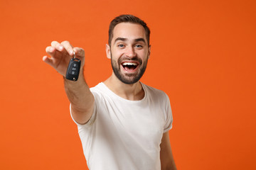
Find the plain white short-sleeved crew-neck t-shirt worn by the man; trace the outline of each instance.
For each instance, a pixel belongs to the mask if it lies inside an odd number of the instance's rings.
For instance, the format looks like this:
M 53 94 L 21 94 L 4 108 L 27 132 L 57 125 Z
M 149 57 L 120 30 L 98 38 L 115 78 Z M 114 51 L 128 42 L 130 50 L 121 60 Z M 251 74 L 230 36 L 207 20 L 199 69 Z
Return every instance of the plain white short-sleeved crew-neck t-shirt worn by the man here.
M 161 169 L 161 138 L 172 127 L 169 97 L 145 84 L 142 88 L 140 101 L 117 96 L 103 83 L 90 89 L 94 113 L 87 124 L 77 123 L 90 170 Z

